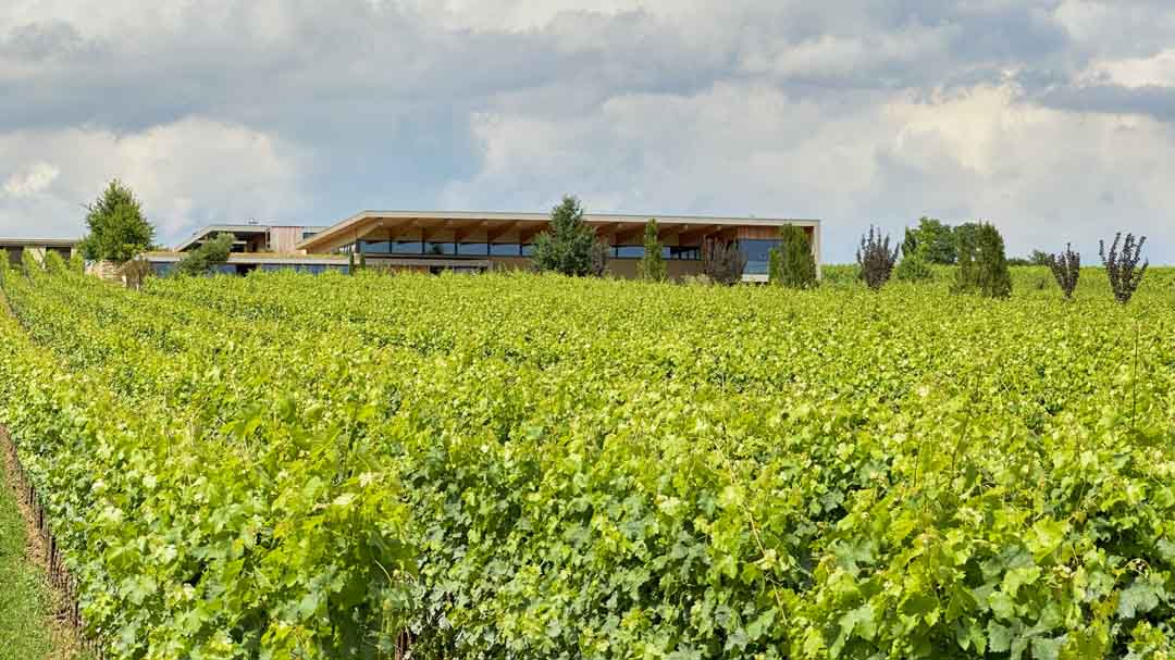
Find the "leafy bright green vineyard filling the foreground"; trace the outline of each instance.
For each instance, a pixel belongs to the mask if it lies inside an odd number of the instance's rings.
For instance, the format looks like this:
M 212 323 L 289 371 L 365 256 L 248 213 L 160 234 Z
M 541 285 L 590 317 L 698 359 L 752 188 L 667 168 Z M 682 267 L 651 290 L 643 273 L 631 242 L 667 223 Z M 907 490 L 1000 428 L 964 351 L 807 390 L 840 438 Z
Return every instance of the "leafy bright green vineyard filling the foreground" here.
M 0 265 L 0 423 L 107 656 L 1175 653 L 1175 270 Z

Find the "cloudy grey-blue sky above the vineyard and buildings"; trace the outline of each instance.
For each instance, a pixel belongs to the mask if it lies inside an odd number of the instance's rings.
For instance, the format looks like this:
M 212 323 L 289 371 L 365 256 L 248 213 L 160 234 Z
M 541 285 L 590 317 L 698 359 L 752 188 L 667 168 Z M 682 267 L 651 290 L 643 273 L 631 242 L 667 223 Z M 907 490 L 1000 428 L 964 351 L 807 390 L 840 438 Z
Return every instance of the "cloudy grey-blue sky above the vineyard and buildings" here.
M 4 0 L 0 235 L 360 209 L 982 218 L 1175 263 L 1169 0 Z

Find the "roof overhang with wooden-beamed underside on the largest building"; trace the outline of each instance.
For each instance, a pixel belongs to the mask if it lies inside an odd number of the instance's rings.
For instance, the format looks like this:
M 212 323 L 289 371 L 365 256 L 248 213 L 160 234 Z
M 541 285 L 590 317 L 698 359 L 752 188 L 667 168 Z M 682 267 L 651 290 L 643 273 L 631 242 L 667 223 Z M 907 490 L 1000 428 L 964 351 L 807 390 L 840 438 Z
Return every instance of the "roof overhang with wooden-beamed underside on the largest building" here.
M 723 217 L 685 215 L 631 215 L 631 214 L 584 214 L 584 222 L 597 229 L 637 231 L 650 220 L 664 228 L 692 227 L 783 227 L 798 224 L 818 227 L 819 220 Z M 296 245 L 307 252 L 330 252 L 354 243 L 381 228 L 445 229 L 454 231 L 478 228 L 494 236 L 495 228 L 512 228 L 533 234 L 546 228 L 551 217 L 540 213 L 484 213 L 484 211 L 362 211 L 310 236 Z M 489 242 L 494 242 L 492 238 Z

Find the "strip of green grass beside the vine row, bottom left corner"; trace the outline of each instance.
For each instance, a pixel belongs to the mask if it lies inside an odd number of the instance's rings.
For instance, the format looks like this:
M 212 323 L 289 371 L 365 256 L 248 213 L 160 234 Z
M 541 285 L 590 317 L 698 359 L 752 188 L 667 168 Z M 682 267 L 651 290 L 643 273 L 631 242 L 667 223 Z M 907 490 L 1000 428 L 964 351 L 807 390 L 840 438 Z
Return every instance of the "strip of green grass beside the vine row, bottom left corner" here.
M 25 520 L 0 460 L 0 660 L 33 660 L 53 651 L 49 593 L 25 548 Z

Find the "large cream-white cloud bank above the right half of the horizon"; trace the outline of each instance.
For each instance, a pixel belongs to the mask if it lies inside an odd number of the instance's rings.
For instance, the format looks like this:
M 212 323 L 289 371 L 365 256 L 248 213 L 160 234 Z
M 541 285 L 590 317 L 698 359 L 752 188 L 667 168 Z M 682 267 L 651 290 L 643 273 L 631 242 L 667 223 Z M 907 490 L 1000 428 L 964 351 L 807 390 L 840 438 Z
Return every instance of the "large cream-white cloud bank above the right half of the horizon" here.
M 986 220 L 1009 251 L 1090 258 L 1115 229 L 1171 254 L 1175 137 L 1137 116 L 1087 116 L 1018 101 L 1008 86 L 895 93 L 840 113 L 767 86 L 612 99 L 573 122 L 482 116 L 483 168 L 450 206 L 545 208 L 578 193 L 593 210 L 820 217 L 826 258 L 851 258 L 868 223 L 894 234 L 921 215 Z

